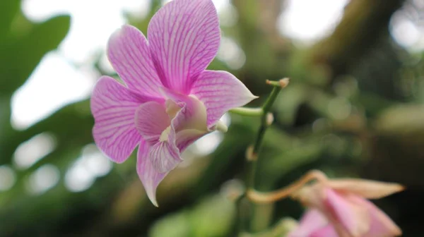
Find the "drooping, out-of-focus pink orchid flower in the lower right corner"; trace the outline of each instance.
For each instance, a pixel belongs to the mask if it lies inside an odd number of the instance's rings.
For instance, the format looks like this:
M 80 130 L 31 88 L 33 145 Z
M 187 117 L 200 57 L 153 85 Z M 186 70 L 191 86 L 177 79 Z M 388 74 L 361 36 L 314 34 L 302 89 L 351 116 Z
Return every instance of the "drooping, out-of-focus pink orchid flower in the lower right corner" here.
M 355 179 L 314 183 L 293 195 L 309 209 L 289 237 L 393 237 L 401 229 L 366 198 L 399 192 L 399 184 Z

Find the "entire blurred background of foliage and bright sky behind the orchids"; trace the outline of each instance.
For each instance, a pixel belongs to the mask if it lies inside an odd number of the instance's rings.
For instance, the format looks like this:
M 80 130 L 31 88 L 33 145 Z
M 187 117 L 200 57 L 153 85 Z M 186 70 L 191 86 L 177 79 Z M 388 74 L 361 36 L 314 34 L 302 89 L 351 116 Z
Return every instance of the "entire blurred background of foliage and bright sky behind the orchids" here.
M 89 97 L 113 75 L 108 37 L 146 32 L 158 0 L 0 1 L 0 236 L 234 236 L 225 193 L 245 178 L 259 119 L 226 114 L 148 201 L 136 157 L 112 164 L 93 144 Z M 273 108 L 257 187 L 310 169 L 404 183 L 375 202 L 423 236 L 424 0 L 213 0 L 223 38 L 210 69 L 260 99 L 290 77 Z M 224 194 L 224 195 L 223 195 Z M 292 200 L 257 207 L 254 229 L 297 219 Z

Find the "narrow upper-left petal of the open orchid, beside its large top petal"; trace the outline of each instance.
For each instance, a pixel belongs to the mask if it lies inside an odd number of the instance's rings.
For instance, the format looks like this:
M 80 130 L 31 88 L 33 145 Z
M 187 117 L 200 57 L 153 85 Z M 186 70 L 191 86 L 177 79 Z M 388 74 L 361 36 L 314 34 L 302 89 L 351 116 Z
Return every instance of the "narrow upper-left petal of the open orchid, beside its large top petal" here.
M 107 56 L 126 85 L 142 95 L 158 96 L 163 86 L 151 59 L 143 33 L 131 25 L 114 32 L 107 44 Z

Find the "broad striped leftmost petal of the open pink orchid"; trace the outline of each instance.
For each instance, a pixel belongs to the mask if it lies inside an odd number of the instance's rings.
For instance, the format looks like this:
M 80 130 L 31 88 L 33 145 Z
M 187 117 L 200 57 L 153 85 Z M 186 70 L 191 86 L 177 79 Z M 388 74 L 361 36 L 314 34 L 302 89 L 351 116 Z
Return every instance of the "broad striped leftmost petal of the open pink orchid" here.
M 91 97 L 95 143 L 114 162 L 124 162 L 141 140 L 134 124 L 139 104 L 146 101 L 113 78 L 98 80 Z

